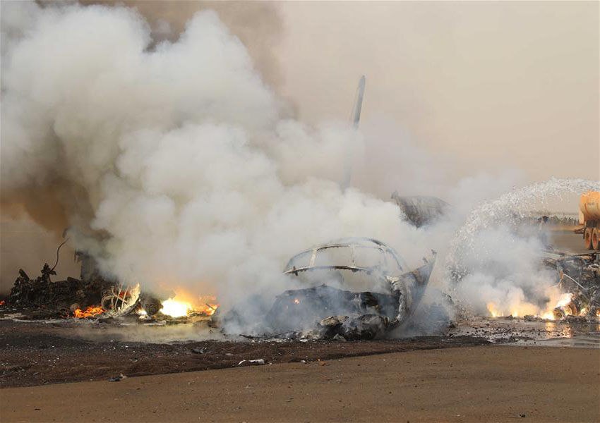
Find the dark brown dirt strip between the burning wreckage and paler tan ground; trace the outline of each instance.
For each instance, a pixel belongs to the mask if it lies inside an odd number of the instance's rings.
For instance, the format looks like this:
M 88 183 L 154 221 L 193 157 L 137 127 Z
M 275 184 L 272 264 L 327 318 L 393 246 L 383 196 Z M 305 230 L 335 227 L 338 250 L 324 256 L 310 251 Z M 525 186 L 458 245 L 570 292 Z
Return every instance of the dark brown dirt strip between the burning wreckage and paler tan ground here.
M 116 328 L 116 330 L 126 328 Z M 164 329 L 164 328 L 157 328 Z M 85 331 L 85 332 L 84 332 Z M 475 336 L 425 336 L 382 341 L 199 341 L 142 343 L 115 341 L 102 329 L 67 322 L 0 321 L 0 386 L 32 386 L 104 380 L 119 374 L 190 372 L 236 367 L 241 360 L 314 362 L 356 355 L 485 345 Z M 88 338 L 83 338 L 83 336 Z

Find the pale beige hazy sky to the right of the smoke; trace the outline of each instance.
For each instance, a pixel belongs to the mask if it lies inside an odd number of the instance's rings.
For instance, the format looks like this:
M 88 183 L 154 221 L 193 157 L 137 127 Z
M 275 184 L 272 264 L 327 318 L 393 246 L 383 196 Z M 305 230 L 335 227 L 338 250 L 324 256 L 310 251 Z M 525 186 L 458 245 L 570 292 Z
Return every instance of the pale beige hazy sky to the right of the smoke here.
M 455 176 L 600 179 L 599 3 L 286 2 L 283 92 L 312 122 L 402 123 Z M 463 166 L 464 165 L 464 166 Z

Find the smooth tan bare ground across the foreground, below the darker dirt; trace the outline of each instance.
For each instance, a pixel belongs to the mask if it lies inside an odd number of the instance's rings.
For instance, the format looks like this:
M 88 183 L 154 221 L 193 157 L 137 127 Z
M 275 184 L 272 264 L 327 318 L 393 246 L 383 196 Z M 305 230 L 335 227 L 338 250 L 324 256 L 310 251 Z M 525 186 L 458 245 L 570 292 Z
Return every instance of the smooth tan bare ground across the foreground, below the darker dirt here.
M 598 422 L 600 353 L 479 346 L 0 391 L 2 422 Z

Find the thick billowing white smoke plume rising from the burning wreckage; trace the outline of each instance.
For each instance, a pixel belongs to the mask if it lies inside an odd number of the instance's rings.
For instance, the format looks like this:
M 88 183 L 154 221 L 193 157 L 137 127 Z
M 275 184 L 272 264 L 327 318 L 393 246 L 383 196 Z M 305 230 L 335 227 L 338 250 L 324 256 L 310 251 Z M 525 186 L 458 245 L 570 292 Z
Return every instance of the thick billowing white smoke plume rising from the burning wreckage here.
M 529 261 L 541 245 L 501 221 L 477 229 L 481 247 L 464 250 L 476 239 L 470 226 L 450 244 L 470 207 L 517 173 L 450 188 L 442 161 L 412 144 L 390 150 L 381 124 L 371 142 L 345 122 L 311 128 L 289 118 L 217 13 L 197 13 L 179 39 L 156 44 L 129 8 L 5 3 L 1 30 L 2 202 L 68 226 L 107 274 L 233 302 L 282 292 L 282 268 L 299 250 L 368 236 L 409 264 L 431 248 L 457 250 L 469 273 L 458 294 L 480 311 L 542 298 L 551 283 Z M 349 156 L 360 190 L 342 192 Z M 415 228 L 380 200 L 397 188 L 445 194 L 454 212 Z M 444 270 L 433 281 L 441 288 Z

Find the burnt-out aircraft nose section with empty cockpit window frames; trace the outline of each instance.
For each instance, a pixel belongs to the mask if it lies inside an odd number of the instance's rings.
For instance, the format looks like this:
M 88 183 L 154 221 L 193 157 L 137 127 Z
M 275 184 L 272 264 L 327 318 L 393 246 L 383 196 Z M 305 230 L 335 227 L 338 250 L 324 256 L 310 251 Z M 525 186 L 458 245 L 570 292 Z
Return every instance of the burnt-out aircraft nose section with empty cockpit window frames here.
M 264 332 L 380 338 L 404 324 L 424 295 L 435 252 L 424 262 L 409 271 L 392 247 L 371 238 L 345 238 L 299 252 L 284 275 L 303 288 L 277 295 L 265 313 Z M 234 308 L 222 323 L 227 326 L 238 317 Z

